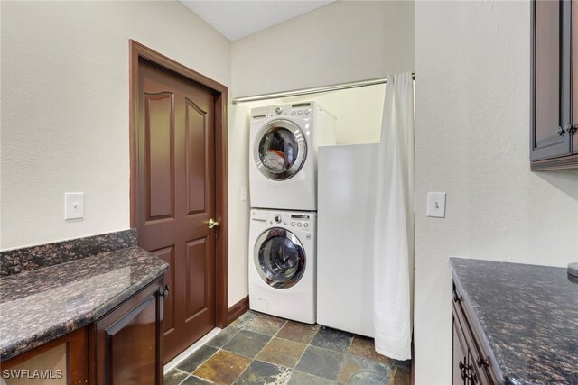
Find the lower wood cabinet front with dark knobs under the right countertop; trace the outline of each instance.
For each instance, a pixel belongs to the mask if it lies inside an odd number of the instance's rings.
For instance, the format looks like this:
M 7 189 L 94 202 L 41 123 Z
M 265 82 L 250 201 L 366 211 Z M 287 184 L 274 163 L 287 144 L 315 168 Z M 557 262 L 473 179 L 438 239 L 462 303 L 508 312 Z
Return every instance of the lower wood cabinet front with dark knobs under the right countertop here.
M 454 385 L 500 384 L 495 364 L 489 359 L 481 338 L 471 326 L 463 297 L 453 285 L 452 296 L 452 383 Z

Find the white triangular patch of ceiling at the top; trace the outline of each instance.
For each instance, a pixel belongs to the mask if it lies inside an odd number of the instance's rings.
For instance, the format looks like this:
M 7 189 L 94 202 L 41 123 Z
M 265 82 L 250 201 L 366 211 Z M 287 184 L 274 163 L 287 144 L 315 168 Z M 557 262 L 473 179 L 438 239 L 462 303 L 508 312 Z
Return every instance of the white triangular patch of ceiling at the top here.
M 181 0 L 182 4 L 198 14 L 205 22 L 210 23 L 230 41 L 283 23 L 333 1 Z

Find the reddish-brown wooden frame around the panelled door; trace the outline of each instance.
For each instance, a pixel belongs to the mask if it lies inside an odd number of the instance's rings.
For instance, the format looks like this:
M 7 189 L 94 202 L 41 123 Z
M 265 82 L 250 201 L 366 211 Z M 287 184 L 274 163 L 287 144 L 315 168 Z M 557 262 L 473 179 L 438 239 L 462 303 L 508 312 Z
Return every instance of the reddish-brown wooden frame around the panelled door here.
M 184 77 L 215 95 L 215 215 L 219 233 L 215 240 L 215 324 L 228 325 L 228 87 L 182 64 L 129 40 L 130 114 L 130 226 L 138 225 L 138 170 L 136 134 L 138 122 L 138 65 L 143 61 L 157 69 Z

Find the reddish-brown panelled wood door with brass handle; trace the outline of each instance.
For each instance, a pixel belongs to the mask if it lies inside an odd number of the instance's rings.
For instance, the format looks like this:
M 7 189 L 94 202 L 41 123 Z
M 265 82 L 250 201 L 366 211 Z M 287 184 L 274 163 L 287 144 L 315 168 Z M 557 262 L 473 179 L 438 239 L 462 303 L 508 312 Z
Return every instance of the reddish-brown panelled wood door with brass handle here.
M 164 362 L 215 327 L 215 96 L 139 63 L 138 243 L 170 265 Z

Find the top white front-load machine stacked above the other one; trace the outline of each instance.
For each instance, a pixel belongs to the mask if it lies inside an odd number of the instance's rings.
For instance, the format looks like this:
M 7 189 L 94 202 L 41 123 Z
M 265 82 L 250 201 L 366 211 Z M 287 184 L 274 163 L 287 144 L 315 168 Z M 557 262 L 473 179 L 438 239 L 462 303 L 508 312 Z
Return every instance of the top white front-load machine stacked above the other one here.
M 335 144 L 335 116 L 315 102 L 251 110 L 251 207 L 317 210 L 317 147 Z

